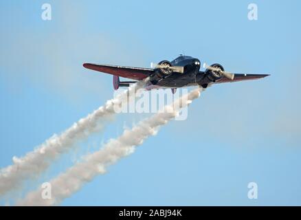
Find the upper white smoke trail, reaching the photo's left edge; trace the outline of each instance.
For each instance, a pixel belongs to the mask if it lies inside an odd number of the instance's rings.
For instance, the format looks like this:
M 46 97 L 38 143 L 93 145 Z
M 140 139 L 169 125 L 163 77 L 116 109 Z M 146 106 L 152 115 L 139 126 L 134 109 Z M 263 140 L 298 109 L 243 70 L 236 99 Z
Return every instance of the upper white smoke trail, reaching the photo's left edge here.
M 100 131 L 103 125 L 100 120 L 103 122 L 109 120 L 115 113 L 114 109 L 120 108 L 122 102 L 126 102 L 129 96 L 135 96 L 146 80 L 131 85 L 124 93 L 107 101 L 104 106 L 80 119 L 60 135 L 50 137 L 34 151 L 21 158 L 13 157 L 13 164 L 0 170 L 0 196 L 21 186 L 25 179 L 42 173 L 58 155 L 66 153 L 78 140 Z

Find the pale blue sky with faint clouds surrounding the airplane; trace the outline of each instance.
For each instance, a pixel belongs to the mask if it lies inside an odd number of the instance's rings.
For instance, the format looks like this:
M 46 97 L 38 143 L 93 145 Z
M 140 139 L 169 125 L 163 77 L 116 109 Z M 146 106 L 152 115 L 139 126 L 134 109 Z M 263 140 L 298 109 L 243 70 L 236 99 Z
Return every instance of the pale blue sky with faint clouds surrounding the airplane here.
M 301 205 L 300 1 L 47 1 L 52 21 L 41 19 L 43 3 L 0 3 L 1 167 L 112 98 L 111 76 L 82 63 L 149 67 L 186 54 L 271 76 L 210 87 L 187 120 L 162 127 L 62 205 Z M 258 21 L 247 19 L 249 3 Z M 141 118 L 118 115 L 27 188 Z

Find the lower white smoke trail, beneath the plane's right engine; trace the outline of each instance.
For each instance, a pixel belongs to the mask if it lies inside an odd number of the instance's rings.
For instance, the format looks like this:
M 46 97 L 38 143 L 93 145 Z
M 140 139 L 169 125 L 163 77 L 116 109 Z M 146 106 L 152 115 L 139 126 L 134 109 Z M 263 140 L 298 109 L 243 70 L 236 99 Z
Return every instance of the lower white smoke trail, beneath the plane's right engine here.
M 166 124 L 172 118 L 175 118 L 179 108 L 185 107 L 192 100 L 198 98 L 201 94 L 201 88 L 191 91 L 189 94 L 182 96 L 173 104 L 165 108 L 166 111 L 157 113 L 152 117 L 143 120 L 131 130 L 125 130 L 117 139 L 110 140 L 100 151 L 91 153 L 83 158 L 83 161 L 67 169 L 65 173 L 58 175 L 49 182 L 52 186 L 52 198 L 43 199 L 43 189 L 40 188 L 30 192 L 20 200 L 17 206 L 53 206 L 63 199 L 71 196 L 74 192 L 80 190 L 83 184 L 91 181 L 98 174 L 106 172 L 107 166 L 114 164 L 122 157 L 125 157 L 133 151 L 135 146 L 144 142 L 150 135 L 155 135 L 159 126 Z M 179 107 L 178 109 L 173 106 Z

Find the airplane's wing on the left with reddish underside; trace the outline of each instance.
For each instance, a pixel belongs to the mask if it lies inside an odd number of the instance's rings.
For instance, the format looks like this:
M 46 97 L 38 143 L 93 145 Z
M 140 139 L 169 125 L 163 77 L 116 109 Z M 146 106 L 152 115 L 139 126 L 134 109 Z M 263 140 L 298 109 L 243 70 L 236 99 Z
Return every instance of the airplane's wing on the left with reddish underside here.
M 84 63 L 83 66 L 87 69 L 96 70 L 98 72 L 103 72 L 114 76 L 131 78 L 133 80 L 143 80 L 144 78 L 150 76 L 150 74 L 153 74 L 154 71 L 150 68 L 96 65 L 91 63 Z

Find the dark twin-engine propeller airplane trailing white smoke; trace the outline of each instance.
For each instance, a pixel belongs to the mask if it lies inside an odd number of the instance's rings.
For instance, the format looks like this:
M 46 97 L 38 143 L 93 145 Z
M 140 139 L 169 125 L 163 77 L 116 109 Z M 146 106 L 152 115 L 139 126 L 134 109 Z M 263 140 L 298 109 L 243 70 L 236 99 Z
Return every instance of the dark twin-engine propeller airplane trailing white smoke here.
M 269 76 L 269 74 L 232 74 L 225 72 L 224 67 L 218 63 L 210 66 L 204 64 L 205 71 L 200 71 L 201 62 L 198 58 L 181 54 L 173 61 L 159 62 L 154 68 L 91 63 L 84 63 L 83 66 L 87 69 L 113 75 L 113 88 L 115 90 L 119 87 L 129 87 L 132 83 L 149 77 L 145 89 L 170 88 L 172 94 L 175 94 L 177 88 L 181 87 L 201 86 L 207 88 L 208 85 L 212 84 L 255 80 Z M 135 81 L 120 82 L 120 77 Z

